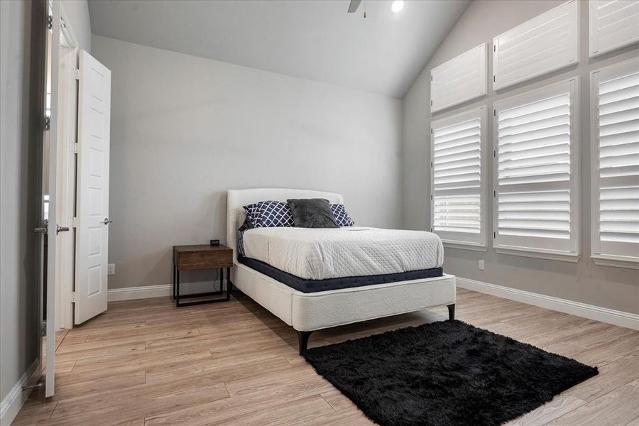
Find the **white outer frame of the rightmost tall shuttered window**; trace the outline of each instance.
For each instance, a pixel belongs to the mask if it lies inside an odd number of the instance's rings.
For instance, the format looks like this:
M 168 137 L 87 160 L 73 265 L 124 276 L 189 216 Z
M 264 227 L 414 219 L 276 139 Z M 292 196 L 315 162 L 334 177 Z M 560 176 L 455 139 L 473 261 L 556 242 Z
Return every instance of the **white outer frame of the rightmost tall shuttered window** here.
M 599 253 L 601 241 L 599 240 L 599 82 L 600 77 L 606 76 L 611 79 L 623 77 L 632 70 L 639 69 L 639 58 L 617 62 L 613 65 L 601 67 L 590 72 L 590 148 L 591 148 L 591 215 L 590 215 L 590 235 L 591 253 L 590 257 L 600 266 L 614 266 L 618 268 L 639 269 L 639 256 L 623 256 L 618 254 Z M 611 246 L 624 245 L 623 243 L 608 243 Z M 626 243 L 632 244 L 632 243 Z M 632 246 L 628 246 L 632 249 Z M 628 250 L 630 252 L 630 250 Z

